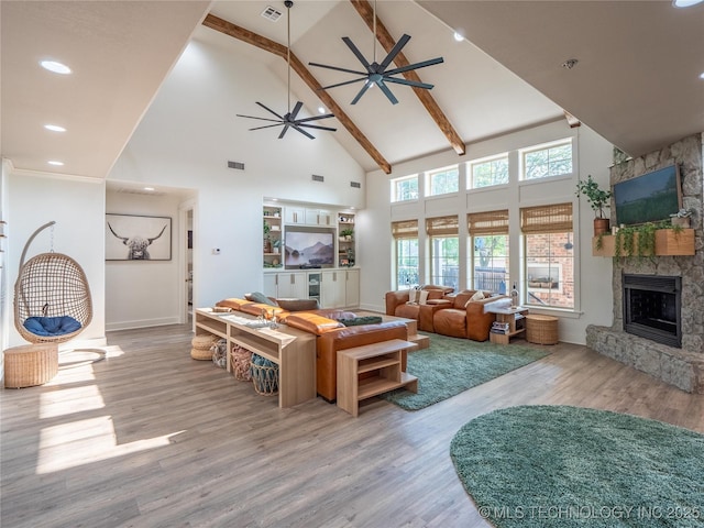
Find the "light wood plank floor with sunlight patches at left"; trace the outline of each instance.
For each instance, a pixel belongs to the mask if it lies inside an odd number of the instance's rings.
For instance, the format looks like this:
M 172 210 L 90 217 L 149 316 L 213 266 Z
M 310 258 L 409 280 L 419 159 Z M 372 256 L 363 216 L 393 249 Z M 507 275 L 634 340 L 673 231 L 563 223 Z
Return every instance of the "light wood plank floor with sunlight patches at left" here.
M 424 410 L 374 400 L 352 418 L 320 398 L 278 409 L 191 360 L 190 337 L 187 326 L 111 332 L 106 360 L 64 355 L 50 384 L 2 391 L 0 525 L 488 526 L 449 457 L 479 415 L 564 404 L 704 432 L 704 396 L 583 346 L 549 346 L 543 360 Z

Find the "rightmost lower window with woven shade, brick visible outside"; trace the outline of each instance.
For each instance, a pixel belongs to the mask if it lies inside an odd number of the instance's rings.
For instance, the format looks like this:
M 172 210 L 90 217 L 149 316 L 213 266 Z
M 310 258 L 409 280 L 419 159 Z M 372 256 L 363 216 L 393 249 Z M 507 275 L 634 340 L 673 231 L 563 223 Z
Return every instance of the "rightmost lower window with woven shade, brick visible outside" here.
M 526 304 L 574 308 L 572 204 L 520 209 Z

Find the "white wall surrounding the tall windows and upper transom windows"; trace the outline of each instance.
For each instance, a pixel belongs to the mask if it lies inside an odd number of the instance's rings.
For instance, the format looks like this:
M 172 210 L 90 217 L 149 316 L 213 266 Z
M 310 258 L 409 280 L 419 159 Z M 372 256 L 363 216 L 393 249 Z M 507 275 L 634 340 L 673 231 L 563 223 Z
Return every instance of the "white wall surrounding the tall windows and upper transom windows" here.
M 563 138 L 575 138 L 576 165 L 572 178 L 550 178 L 544 182 L 519 182 L 512 174 L 508 186 L 497 189 L 477 189 L 460 191 L 447 197 L 420 199 L 402 206 L 391 205 L 391 179 L 419 172 L 444 167 L 490 155 L 516 151 Z M 464 156 L 452 152 L 441 153 L 426 158 L 398 164 L 393 175 L 381 170 L 370 173 L 366 179 L 367 209 L 358 216 L 358 264 L 361 267 L 362 306 L 370 310 L 384 310 L 384 293 L 392 288 L 392 238 L 391 222 L 397 219 L 419 219 L 446 213 L 486 211 L 508 208 L 512 232 L 518 232 L 518 210 L 525 206 L 559 204 L 571 201 L 575 212 L 575 280 L 578 282 L 578 299 L 572 314 L 552 314 L 560 317 L 560 340 L 574 343 L 585 342 L 587 324 L 610 324 L 612 290 L 609 258 L 594 257 L 591 254 L 593 233 L 593 211 L 585 202 L 578 200 L 574 190 L 579 178 L 591 174 L 602 186 L 608 187 L 608 166 L 612 162 L 612 145 L 585 125 L 570 129 L 563 121 L 536 127 L 494 140 L 471 144 Z M 517 164 L 516 164 L 517 165 Z M 463 179 L 463 178 L 461 178 Z M 461 183 L 460 188 L 464 188 Z M 460 234 L 466 238 L 466 227 L 462 226 Z M 460 238 L 460 249 L 466 246 Z M 419 249 L 422 252 L 422 248 Z M 510 255 L 520 254 L 520 240 L 510 239 Z M 422 253 L 421 253 L 422 258 Z M 510 276 L 518 277 L 520 260 L 510 258 Z M 464 266 L 466 267 L 466 266 Z M 384 270 L 385 273 L 378 273 Z M 460 275 L 460 284 L 466 284 L 466 270 Z M 540 311 L 540 310 L 534 310 Z

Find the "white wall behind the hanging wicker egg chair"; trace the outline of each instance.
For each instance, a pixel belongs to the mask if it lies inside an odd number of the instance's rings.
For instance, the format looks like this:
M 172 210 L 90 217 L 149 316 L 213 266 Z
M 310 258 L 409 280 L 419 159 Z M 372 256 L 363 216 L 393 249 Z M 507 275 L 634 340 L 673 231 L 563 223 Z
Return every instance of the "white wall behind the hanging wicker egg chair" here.
M 74 258 L 84 268 L 92 299 L 92 322 L 67 346 L 105 343 L 105 182 L 13 172 L 7 182 L 8 284 L 14 285 L 24 244 L 32 233 L 52 220 L 56 224 L 38 234 L 25 261 L 52 249 Z M 10 295 L 12 295 L 10 293 Z M 11 316 L 12 317 L 12 316 Z M 3 334 L 6 330 L 3 327 Z M 14 329 L 7 329 L 8 345 L 26 344 Z

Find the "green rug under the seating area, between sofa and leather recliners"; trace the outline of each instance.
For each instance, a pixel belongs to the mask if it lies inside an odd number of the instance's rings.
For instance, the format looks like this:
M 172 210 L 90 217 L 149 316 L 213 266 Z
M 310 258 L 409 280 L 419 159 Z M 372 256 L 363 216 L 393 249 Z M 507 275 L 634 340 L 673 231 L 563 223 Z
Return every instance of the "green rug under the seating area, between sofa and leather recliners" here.
M 407 371 L 418 376 L 418 394 L 393 391 L 381 397 L 406 410 L 418 410 L 549 355 L 518 344 L 494 344 L 430 336 L 430 348 L 408 354 Z

